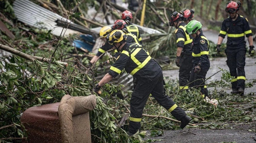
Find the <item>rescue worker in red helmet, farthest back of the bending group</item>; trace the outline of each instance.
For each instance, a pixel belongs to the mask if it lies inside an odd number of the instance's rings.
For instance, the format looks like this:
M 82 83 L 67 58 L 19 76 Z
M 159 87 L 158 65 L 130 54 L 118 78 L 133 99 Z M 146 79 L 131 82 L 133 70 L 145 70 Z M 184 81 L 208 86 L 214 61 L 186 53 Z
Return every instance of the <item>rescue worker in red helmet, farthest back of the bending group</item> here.
M 140 37 L 139 28 L 131 23 L 132 13 L 129 10 L 125 10 L 122 13 L 122 19 L 127 23 L 127 30 L 137 36 L 139 43 L 142 44 L 142 38 Z

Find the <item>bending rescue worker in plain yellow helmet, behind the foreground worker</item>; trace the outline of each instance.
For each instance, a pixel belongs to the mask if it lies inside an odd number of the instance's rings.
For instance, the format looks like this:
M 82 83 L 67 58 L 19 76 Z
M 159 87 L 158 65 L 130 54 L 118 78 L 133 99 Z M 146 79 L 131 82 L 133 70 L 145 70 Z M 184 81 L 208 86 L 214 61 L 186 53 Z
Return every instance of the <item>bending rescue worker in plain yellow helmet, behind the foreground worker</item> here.
M 100 55 L 113 48 L 113 45 L 110 45 L 106 40 L 106 37 L 111 32 L 111 30 L 112 28 L 110 26 L 104 26 L 100 29 L 100 39 L 103 40 L 105 43 L 99 48 L 97 54 L 91 59 L 91 61 L 89 62 L 89 66 L 92 66 L 92 64 L 97 62 L 97 59 L 100 57 Z M 119 55 L 120 53 L 118 53 L 117 50 L 114 50 L 113 57 L 116 59 Z M 106 63 L 109 63 L 109 60 L 104 62 L 104 64 Z

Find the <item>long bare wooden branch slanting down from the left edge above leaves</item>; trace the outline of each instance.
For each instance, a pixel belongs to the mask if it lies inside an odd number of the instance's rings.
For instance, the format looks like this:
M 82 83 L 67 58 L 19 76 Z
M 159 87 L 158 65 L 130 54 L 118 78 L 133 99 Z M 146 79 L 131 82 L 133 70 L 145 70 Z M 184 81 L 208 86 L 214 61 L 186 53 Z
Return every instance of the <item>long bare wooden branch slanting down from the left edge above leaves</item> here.
M 0 45 L 0 49 L 4 50 L 4 51 L 7 51 L 7 52 L 10 52 L 14 55 L 17 55 L 17 56 L 20 56 L 24 59 L 28 59 L 28 60 L 31 60 L 31 61 L 34 61 L 34 60 L 40 60 L 40 61 L 43 61 L 43 62 L 47 62 L 49 63 L 50 62 L 50 58 L 42 58 L 42 57 L 36 57 L 36 56 L 31 56 L 31 55 L 28 55 L 28 54 L 25 54 L 21 51 L 18 51 L 16 49 L 13 49 L 11 47 L 8 47 L 8 46 L 5 46 L 3 44 Z M 63 65 L 65 67 L 68 66 L 68 63 L 65 63 L 65 62 L 61 62 L 61 61 L 55 61 L 54 62 L 56 65 L 60 64 L 60 65 Z

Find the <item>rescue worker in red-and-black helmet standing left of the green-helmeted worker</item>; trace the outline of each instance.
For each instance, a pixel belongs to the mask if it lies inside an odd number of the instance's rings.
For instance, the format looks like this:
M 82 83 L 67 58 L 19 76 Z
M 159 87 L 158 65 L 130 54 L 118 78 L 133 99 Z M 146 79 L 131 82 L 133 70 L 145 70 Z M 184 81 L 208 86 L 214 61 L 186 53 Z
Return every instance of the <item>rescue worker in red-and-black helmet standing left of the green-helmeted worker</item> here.
M 188 81 L 192 64 L 192 38 L 186 33 L 186 23 L 183 21 L 183 15 L 174 11 L 171 14 L 169 26 L 175 26 L 177 54 L 175 63 L 179 69 L 179 85 L 180 89 L 188 89 Z

